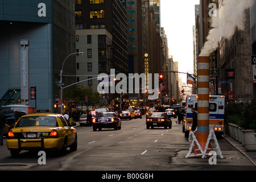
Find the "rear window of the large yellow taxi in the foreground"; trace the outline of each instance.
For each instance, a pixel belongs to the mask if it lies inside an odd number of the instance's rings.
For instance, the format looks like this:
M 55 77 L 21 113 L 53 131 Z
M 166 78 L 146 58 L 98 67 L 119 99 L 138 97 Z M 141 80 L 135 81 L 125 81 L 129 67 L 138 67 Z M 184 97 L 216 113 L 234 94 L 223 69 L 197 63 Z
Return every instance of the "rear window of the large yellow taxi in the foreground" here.
M 20 118 L 15 127 L 27 126 L 58 126 L 56 117 L 51 116 L 31 116 Z

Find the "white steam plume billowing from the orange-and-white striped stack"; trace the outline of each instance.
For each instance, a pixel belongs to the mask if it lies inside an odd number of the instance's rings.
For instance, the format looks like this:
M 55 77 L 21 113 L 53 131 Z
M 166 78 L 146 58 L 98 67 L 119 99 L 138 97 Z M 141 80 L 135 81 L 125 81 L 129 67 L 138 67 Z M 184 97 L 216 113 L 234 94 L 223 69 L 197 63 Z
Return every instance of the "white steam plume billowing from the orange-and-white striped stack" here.
M 209 56 L 216 48 L 221 38 L 231 39 L 236 31 L 243 30 L 245 10 L 249 9 L 253 0 L 222 0 L 222 6 L 217 10 L 217 16 L 212 17 L 213 27 L 209 31 L 207 41 L 201 49 L 200 56 Z

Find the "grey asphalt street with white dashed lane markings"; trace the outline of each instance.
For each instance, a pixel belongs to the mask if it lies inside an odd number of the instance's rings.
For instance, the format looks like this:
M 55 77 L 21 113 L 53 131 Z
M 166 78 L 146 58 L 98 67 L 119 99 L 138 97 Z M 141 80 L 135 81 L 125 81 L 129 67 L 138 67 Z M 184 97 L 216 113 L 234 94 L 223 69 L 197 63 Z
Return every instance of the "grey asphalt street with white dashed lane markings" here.
M 142 119 L 122 121 L 121 130 L 77 126 L 78 148 L 65 156 L 46 152 L 46 164 L 38 164 L 38 153 L 22 151 L 12 158 L 0 146 L 0 170 L 31 171 L 189 171 L 189 170 L 255 170 L 249 160 L 224 139 L 218 139 L 224 159 L 216 165 L 209 159 L 189 158 L 190 142 L 184 138 L 182 126 L 172 119 L 172 129 L 146 129 Z M 214 144 L 213 144 L 214 145 Z

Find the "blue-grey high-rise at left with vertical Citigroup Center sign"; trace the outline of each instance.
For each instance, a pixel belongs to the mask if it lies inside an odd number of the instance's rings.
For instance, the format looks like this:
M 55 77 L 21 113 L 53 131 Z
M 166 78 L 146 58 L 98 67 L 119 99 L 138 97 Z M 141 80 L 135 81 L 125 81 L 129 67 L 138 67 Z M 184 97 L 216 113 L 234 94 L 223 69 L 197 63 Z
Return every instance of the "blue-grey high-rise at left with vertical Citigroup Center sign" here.
M 60 98 L 55 81 L 75 52 L 74 1 L 1 1 L 0 9 L 0 107 L 26 104 L 53 112 Z M 75 75 L 75 65 L 75 56 L 69 57 L 63 74 Z M 35 86 L 36 100 L 30 92 Z

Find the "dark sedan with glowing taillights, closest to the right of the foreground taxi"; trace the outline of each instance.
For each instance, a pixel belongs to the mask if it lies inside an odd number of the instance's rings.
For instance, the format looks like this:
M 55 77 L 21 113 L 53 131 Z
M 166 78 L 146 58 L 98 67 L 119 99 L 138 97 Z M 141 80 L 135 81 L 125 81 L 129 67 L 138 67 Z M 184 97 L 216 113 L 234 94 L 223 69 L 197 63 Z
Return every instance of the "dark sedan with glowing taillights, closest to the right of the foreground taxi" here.
M 96 114 L 93 118 L 93 131 L 97 129 L 101 131 L 102 128 L 114 128 L 115 130 L 121 129 L 121 119 L 118 118 L 114 112 L 103 112 Z

